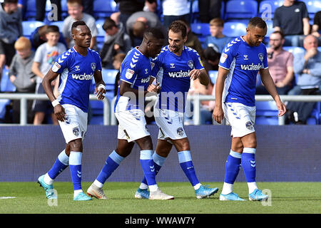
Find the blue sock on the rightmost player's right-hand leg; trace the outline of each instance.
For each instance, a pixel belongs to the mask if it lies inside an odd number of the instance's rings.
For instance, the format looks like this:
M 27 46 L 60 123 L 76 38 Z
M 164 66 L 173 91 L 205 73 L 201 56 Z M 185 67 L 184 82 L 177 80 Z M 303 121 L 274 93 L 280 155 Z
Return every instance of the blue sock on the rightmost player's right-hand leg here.
M 245 147 L 242 154 L 242 167 L 247 182 L 255 182 L 255 148 Z

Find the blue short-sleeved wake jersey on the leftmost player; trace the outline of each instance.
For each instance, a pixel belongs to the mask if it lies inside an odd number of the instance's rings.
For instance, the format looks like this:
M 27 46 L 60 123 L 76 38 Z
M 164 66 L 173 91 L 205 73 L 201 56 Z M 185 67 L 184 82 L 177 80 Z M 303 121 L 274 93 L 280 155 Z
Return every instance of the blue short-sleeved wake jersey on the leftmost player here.
M 60 74 L 58 101 L 75 105 L 88 113 L 89 94 L 95 71 L 101 71 L 101 58 L 96 51 L 88 48 L 86 56 L 81 56 L 71 48 L 58 56 L 52 71 Z

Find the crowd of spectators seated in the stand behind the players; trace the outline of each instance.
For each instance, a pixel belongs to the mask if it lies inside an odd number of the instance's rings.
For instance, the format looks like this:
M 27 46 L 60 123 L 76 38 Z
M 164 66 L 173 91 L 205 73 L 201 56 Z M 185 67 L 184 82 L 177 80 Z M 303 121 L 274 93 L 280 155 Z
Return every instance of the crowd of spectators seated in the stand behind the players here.
M 46 21 L 46 1 L 35 1 L 36 20 Z M 188 29 L 188 40 L 185 46 L 198 51 L 208 72 L 218 70 L 220 53 L 233 39 L 223 33 L 225 21 L 220 13 L 222 1 L 218 0 L 198 0 L 198 22 L 209 25 L 210 35 L 203 40 L 200 40 L 191 29 L 190 23 L 195 21 L 192 21 L 188 0 L 115 0 L 118 11 L 103 19 L 102 28 L 105 36 L 101 46 L 97 41 L 97 18 L 94 16 L 93 1 L 66 1 L 68 15 L 63 17 L 61 1 L 51 0 L 51 4 L 56 4 L 58 21 L 63 21 L 62 29 L 59 30 L 57 26 L 49 23 L 36 28 L 30 38 L 24 38 L 22 28 L 22 21 L 26 14 L 26 0 L 0 0 L 0 2 L 0 79 L 3 69 L 7 68 L 10 81 L 16 86 L 16 93 L 44 93 L 41 89 L 41 80 L 46 71 L 54 63 L 56 56 L 73 47 L 71 25 L 74 21 L 85 21 L 91 29 L 91 48 L 100 53 L 103 68 L 118 71 L 126 53 L 141 43 L 142 34 L 146 28 L 160 28 L 166 37 L 168 25 L 172 21 L 183 21 Z M 283 5 L 274 12 L 274 31 L 265 44 L 270 73 L 280 95 L 307 93 L 302 86 L 313 88 L 313 94 L 320 93 L 321 54 L 317 50 L 317 44 L 321 43 L 321 11 L 315 14 L 312 25 L 309 20 L 312 19 L 309 18 L 307 7 L 302 1 L 285 0 Z M 167 43 L 165 39 L 164 46 Z M 305 48 L 305 52 L 290 53 L 283 48 L 285 46 L 302 47 Z M 58 82 L 55 83 L 57 86 Z M 195 81 L 191 83 L 190 94 L 215 94 L 214 83 L 203 88 Z M 116 88 L 117 78 L 115 90 Z M 257 94 L 268 93 L 264 86 L 258 84 Z M 19 102 L 15 101 L 13 107 L 14 115 L 11 123 L 19 123 Z M 51 108 L 40 100 L 34 101 L 33 105 L 29 102 L 28 107 L 28 123 L 35 125 L 46 123 L 44 114 L 51 114 Z M 293 113 L 297 113 L 295 123 L 305 123 L 309 113 L 305 113 L 301 118 L 302 107 L 297 108 L 297 105 L 291 104 L 290 108 L 291 120 L 294 119 Z M 45 113 L 44 110 L 46 110 Z M 213 109 L 208 102 L 202 103 L 201 110 L 205 113 L 201 114 L 201 123 L 213 123 L 210 119 Z M 306 108 L 306 110 L 310 109 Z M 54 118 L 52 123 L 57 123 Z

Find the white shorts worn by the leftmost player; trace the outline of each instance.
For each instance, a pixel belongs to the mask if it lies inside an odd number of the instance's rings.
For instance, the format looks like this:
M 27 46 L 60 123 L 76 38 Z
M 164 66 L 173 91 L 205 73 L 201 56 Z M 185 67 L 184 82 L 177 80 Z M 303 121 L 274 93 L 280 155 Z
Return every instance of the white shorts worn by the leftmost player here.
M 65 109 L 66 120 L 58 121 L 66 143 L 81 138 L 84 140 L 87 131 L 88 113 L 75 105 L 62 105 Z

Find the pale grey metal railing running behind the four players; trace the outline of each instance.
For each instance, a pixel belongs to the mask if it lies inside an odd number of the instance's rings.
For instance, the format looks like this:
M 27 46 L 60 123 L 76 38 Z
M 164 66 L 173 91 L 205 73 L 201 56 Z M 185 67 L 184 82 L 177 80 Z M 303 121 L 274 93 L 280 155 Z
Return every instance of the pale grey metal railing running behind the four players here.
M 302 101 L 302 102 L 321 102 L 321 95 L 280 95 L 283 102 L 285 101 Z M 26 100 L 48 100 L 46 94 L 34 93 L 0 93 L 0 99 L 21 100 L 20 103 L 20 125 L 26 125 Z M 91 94 L 90 100 L 97 100 L 96 95 Z M 146 101 L 155 100 L 156 96 L 147 97 Z M 192 95 L 188 96 L 188 100 L 193 100 L 194 125 L 200 125 L 200 101 L 215 100 L 213 95 Z M 256 101 L 269 101 L 273 100 L 270 95 L 255 95 Z M 113 107 L 116 102 L 116 97 L 113 98 L 111 103 L 108 99 L 103 99 L 103 125 L 116 125 L 117 120 L 113 113 Z M 279 117 L 279 125 L 285 125 L 285 118 Z

